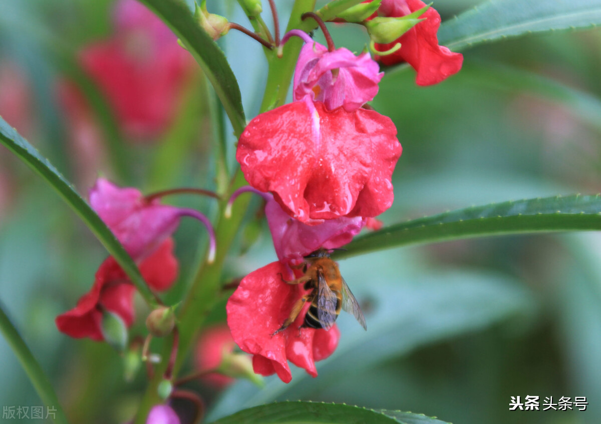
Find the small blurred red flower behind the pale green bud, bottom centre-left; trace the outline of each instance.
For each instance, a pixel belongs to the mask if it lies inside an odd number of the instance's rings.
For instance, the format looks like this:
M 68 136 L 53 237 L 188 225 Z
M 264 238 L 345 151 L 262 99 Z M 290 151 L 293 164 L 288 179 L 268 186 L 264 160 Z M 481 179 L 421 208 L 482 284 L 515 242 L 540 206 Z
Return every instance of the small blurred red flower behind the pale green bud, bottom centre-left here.
M 230 329 L 225 324 L 206 330 L 198 339 L 196 348 L 195 359 L 198 371 L 218 368 L 224 359 L 224 354 L 232 353 L 235 347 Z M 207 374 L 203 380 L 215 387 L 225 387 L 235 381 L 232 377 L 216 372 Z

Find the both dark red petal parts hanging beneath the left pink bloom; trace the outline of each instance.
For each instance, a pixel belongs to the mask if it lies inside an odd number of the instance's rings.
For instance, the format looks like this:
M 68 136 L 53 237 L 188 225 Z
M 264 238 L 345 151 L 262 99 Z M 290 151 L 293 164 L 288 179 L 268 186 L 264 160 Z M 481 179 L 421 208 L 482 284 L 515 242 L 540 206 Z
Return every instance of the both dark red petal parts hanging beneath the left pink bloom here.
M 148 285 L 158 291 L 171 287 L 177 278 L 178 264 L 173 256 L 173 240 L 168 238 L 139 265 L 142 277 Z M 103 310 L 115 313 L 129 327 L 133 323 L 133 294 L 135 287 L 127 275 L 109 256 L 98 271 L 94 285 L 83 295 L 77 305 L 56 317 L 60 332 L 73 338 L 89 337 L 104 340 L 102 335 Z

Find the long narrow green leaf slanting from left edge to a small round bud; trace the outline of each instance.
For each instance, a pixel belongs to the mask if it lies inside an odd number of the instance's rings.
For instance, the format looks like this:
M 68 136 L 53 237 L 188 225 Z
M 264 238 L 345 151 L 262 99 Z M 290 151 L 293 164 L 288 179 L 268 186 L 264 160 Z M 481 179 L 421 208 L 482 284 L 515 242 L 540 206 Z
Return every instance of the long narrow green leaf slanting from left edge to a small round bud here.
M 117 260 L 118 264 L 130 277 L 142 297 L 149 303 L 156 303 L 154 295 L 144 282 L 138 267 L 132 258 L 127 254 L 121 243 L 115 238 L 111 230 L 105 225 L 87 202 L 76 192 L 75 187 L 67 181 L 63 175 L 46 158 L 29 144 L 14 128 L 2 118 L 0 118 L 0 142 L 8 150 L 16 154 L 19 159 L 29 165 L 37 174 L 39 174 L 65 202 L 75 211 L 84 221 L 90 230 L 96 235 L 100 243 Z

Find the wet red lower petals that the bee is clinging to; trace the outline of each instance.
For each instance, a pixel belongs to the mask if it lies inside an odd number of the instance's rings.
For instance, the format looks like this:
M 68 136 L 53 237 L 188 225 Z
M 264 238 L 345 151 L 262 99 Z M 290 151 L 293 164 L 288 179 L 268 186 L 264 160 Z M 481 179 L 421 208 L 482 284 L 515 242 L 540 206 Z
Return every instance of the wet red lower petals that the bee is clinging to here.
M 288 360 L 317 376 L 315 361 L 325 359 L 338 345 L 340 332 L 334 326 L 329 331 L 301 328 L 309 304 L 296 321 L 284 331 L 273 334 L 288 317 L 293 304 L 305 291 L 301 285 L 282 282 L 279 273 L 286 267 L 272 262 L 248 274 L 227 303 L 228 326 L 236 344 L 253 356 L 257 374 L 278 374 L 284 383 L 292 376 Z

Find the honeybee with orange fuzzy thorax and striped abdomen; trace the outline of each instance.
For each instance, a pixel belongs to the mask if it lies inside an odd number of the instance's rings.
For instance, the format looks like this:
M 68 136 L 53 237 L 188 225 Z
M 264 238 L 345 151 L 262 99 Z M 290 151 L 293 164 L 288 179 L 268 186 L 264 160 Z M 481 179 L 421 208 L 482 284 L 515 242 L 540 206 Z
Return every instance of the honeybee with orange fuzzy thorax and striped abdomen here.
M 294 304 L 290 316 L 273 334 L 287 329 L 290 324 L 294 323 L 307 302 L 310 302 L 311 306 L 307 310 L 305 321 L 301 327 L 329 330 L 334 326 L 340 309 L 344 309 L 346 312 L 352 313 L 359 324 L 367 330 L 363 312 L 341 276 L 338 264 L 330 259 L 328 250 L 317 250 L 305 256 L 305 259 L 307 261 L 304 265 L 304 276 L 292 281 L 285 281 L 281 275 L 280 277 L 287 284 L 304 284 L 305 290 L 312 290 Z

